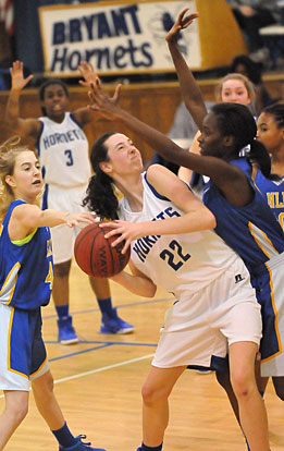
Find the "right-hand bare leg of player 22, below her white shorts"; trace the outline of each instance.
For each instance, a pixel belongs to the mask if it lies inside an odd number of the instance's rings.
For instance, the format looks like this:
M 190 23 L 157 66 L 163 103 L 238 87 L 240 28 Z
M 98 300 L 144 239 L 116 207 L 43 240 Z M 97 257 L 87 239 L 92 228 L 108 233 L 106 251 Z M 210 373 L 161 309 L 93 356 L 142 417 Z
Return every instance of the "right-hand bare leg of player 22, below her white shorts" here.
M 258 345 L 254 342 L 235 342 L 230 345 L 231 382 L 235 392 L 240 425 L 251 451 L 268 451 L 268 418 L 263 400 L 255 377 Z M 254 412 L 254 416 L 251 416 Z

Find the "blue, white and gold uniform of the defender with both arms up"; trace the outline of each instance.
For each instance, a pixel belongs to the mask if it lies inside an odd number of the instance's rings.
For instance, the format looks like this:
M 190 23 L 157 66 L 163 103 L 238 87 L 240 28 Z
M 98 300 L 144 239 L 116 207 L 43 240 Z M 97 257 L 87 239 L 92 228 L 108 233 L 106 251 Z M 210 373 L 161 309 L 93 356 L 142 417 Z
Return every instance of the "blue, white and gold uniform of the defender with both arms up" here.
M 260 351 L 266 361 L 283 352 L 284 294 L 279 282 L 283 280 L 284 233 L 263 194 L 252 183 L 248 160 L 243 157 L 231 163 L 239 167 L 250 181 L 255 190 L 252 202 L 235 207 L 209 181 L 203 191 L 203 203 L 215 216 L 215 232 L 243 258 L 250 272 L 261 305 L 263 338 Z

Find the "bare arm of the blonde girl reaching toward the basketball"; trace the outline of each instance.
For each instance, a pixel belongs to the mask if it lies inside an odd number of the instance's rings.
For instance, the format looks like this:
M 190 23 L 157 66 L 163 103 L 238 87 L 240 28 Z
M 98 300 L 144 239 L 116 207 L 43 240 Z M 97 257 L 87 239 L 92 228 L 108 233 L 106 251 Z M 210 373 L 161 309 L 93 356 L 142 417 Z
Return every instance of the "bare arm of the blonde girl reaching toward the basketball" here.
M 40 210 L 36 205 L 22 204 L 14 208 L 9 222 L 11 240 L 22 240 L 39 227 L 54 227 L 66 224 L 79 227 L 81 222 L 95 222 L 94 215 L 89 212 L 70 214 L 52 209 Z

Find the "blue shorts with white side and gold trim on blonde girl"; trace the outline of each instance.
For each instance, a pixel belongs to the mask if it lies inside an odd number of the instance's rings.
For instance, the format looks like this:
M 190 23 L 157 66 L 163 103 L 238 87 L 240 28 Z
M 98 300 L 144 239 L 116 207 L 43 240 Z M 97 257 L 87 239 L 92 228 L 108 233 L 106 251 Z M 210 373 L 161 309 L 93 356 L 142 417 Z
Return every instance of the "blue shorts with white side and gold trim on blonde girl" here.
M 41 315 L 0 303 L 0 390 L 29 390 L 29 381 L 49 370 Z

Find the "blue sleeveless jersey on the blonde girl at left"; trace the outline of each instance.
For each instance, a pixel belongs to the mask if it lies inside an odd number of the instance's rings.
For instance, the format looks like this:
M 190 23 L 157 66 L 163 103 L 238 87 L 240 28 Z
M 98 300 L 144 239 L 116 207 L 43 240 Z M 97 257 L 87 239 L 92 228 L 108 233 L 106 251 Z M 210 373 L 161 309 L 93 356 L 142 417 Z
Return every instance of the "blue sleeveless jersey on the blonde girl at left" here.
M 50 230 L 36 229 L 25 239 L 12 242 L 8 226 L 13 209 L 22 200 L 13 202 L 0 229 L 0 302 L 22 309 L 47 305 L 53 281 L 53 260 Z

